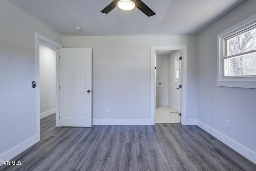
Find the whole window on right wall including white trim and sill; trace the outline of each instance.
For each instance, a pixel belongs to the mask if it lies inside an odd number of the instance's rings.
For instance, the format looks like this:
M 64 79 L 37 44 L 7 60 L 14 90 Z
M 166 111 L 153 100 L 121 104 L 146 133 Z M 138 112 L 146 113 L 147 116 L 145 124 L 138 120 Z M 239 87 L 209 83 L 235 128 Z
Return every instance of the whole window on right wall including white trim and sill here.
M 218 86 L 256 88 L 256 15 L 218 34 Z

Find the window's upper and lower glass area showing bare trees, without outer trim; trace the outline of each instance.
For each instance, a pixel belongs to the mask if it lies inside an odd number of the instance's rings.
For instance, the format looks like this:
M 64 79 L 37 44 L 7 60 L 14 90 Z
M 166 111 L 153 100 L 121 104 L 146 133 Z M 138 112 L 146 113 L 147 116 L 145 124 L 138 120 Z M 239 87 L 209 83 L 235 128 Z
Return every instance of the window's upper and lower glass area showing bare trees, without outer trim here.
M 224 77 L 256 76 L 256 26 L 225 39 Z

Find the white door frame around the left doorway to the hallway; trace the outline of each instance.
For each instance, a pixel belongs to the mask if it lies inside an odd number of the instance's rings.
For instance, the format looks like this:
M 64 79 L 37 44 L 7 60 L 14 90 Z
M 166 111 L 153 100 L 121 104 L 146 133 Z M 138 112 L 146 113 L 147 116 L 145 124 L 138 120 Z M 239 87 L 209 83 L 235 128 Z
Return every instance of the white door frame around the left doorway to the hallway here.
M 35 47 L 36 47 L 36 135 L 39 135 L 40 141 L 40 54 L 39 54 L 39 45 L 40 43 L 46 44 L 47 46 L 56 49 L 56 126 L 59 122 L 58 118 L 58 111 L 59 111 L 59 91 L 57 91 L 57 85 L 59 85 L 59 60 L 58 60 L 58 49 L 63 48 L 61 44 L 58 44 L 57 42 L 54 42 L 50 40 L 49 38 L 46 38 L 45 36 L 42 36 L 41 34 L 35 33 Z

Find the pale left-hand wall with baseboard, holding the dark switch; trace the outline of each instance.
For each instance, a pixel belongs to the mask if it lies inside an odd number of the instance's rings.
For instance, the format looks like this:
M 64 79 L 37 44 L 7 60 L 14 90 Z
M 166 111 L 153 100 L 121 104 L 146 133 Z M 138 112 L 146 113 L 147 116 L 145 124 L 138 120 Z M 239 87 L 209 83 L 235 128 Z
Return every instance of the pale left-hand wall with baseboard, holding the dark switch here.
M 36 135 L 35 32 L 62 44 L 62 36 L 7 0 L 0 1 L 0 161 L 40 139 Z M 16 135 L 16 126 L 21 133 Z

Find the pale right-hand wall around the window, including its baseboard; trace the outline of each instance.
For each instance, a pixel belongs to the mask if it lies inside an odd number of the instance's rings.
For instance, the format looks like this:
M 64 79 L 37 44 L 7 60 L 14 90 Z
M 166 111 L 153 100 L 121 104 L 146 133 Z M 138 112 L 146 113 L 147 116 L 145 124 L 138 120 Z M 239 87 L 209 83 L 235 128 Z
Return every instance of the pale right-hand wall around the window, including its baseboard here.
M 198 125 L 256 163 L 256 89 L 218 87 L 217 34 L 256 14 L 256 1 L 244 4 L 198 35 Z M 230 127 L 225 126 L 230 120 Z

